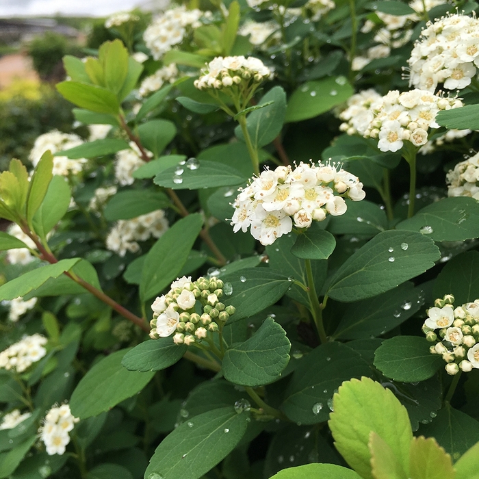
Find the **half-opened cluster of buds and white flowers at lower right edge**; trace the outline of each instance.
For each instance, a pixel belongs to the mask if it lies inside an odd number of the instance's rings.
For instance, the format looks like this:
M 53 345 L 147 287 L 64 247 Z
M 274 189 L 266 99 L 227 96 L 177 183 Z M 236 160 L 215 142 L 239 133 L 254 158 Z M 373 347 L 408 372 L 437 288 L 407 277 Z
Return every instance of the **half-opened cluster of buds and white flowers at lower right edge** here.
M 455 309 L 453 304 L 452 294 L 435 300 L 422 326 L 426 339 L 435 343 L 430 352 L 441 354 L 450 375 L 479 369 L 479 299 Z

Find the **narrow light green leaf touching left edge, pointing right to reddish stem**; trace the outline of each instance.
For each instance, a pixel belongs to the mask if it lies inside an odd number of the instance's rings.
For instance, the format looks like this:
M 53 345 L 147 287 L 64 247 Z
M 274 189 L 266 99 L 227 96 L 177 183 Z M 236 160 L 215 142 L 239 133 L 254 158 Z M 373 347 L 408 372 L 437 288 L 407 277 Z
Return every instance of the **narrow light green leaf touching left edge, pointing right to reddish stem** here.
M 61 259 L 57 263 L 49 264 L 29 271 L 18 278 L 12 279 L 0 286 L 0 301 L 12 300 L 18 296 L 25 296 L 32 289 L 37 289 L 49 278 L 57 278 L 60 274 L 70 270 L 80 261 L 80 258 Z

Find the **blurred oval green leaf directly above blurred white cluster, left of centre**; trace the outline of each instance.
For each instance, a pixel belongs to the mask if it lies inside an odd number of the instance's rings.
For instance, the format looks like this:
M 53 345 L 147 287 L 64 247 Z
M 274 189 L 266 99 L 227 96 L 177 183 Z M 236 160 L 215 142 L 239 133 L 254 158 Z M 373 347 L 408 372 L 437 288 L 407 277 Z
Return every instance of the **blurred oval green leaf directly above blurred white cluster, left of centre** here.
M 127 190 L 109 199 L 103 214 L 108 221 L 131 220 L 137 216 L 168 208 L 170 201 L 163 192 L 155 190 Z

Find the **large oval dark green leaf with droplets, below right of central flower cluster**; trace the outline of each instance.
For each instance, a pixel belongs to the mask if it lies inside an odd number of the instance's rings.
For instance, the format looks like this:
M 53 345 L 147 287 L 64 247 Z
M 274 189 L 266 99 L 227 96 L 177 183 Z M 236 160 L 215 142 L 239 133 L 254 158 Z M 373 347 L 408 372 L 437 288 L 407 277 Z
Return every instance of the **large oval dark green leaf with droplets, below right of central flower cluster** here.
M 351 302 L 370 298 L 432 268 L 441 257 L 432 239 L 412 231 L 383 231 L 337 270 L 326 294 Z

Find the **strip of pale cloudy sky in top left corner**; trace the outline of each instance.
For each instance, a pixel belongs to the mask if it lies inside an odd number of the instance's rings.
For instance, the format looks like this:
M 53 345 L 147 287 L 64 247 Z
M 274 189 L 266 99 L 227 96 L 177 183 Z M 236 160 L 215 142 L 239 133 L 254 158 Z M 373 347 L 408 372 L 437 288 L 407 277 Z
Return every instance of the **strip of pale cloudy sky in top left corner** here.
M 141 0 L 0 0 L 0 17 L 67 15 L 105 16 L 131 10 Z

